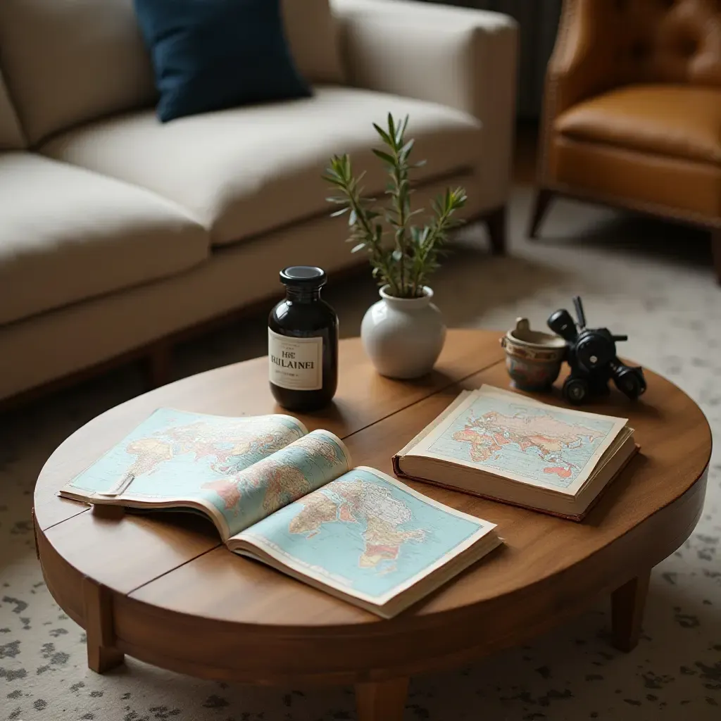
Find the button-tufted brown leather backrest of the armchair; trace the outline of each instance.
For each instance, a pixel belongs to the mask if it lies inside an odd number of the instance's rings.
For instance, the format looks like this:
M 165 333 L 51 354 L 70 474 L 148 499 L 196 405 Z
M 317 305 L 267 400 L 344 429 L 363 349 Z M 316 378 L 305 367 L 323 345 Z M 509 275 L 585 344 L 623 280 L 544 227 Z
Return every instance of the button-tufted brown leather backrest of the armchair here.
M 617 33 L 618 84 L 721 86 L 721 0 L 594 1 Z

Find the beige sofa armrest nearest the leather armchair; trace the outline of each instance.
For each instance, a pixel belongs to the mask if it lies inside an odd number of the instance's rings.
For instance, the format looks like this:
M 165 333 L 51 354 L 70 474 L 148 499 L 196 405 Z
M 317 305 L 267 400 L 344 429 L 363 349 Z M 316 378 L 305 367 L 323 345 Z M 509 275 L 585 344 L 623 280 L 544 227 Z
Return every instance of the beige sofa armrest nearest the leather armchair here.
M 332 0 L 348 80 L 455 107 L 484 126 L 479 157 L 486 208 L 510 187 L 518 27 L 503 14 L 412 0 Z

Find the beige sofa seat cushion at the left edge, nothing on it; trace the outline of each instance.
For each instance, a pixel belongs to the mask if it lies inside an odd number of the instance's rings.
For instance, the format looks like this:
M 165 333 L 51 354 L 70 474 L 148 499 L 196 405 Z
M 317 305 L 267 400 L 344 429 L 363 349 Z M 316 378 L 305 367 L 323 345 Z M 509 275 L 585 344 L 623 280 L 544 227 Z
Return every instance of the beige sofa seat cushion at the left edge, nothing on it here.
M 208 236 L 141 188 L 30 153 L 0 154 L 0 324 L 165 278 Z

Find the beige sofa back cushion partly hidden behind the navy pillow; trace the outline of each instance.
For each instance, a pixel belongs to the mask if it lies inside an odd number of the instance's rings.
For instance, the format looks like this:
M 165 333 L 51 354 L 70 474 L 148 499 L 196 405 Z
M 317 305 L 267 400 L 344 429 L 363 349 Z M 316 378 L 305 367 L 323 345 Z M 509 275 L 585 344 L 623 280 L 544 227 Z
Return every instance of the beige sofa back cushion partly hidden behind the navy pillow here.
M 342 81 L 329 0 L 282 0 L 311 82 Z M 0 68 L 30 143 L 156 98 L 133 0 L 0 0 Z

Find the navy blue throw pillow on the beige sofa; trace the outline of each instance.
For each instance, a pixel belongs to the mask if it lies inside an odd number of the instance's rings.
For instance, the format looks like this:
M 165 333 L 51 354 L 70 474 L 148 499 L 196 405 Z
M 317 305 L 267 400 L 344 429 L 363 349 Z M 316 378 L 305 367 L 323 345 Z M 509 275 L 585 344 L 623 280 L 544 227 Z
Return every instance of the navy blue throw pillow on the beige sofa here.
M 308 97 L 280 0 L 135 0 L 164 123 L 255 102 Z

